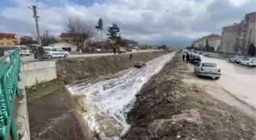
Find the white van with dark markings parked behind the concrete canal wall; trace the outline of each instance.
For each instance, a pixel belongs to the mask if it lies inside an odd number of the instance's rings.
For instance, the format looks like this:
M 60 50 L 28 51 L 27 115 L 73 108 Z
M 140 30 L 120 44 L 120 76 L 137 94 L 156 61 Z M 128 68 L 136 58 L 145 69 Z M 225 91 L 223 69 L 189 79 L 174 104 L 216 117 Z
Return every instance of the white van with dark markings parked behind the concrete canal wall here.
M 69 52 L 62 50 L 62 48 L 45 46 L 43 47 L 46 51 L 46 57 L 50 58 L 68 58 Z

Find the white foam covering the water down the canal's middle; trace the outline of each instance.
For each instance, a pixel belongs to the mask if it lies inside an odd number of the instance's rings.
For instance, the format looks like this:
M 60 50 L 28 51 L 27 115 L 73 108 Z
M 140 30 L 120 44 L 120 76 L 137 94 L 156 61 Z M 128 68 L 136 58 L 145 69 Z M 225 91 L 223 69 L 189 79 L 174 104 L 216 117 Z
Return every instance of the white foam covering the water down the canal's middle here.
M 173 58 L 175 52 L 147 62 L 147 67 L 132 68 L 115 79 L 69 87 L 73 95 L 85 95 L 84 119 L 101 139 L 119 139 L 130 128 L 126 114 L 136 101 L 142 86 Z

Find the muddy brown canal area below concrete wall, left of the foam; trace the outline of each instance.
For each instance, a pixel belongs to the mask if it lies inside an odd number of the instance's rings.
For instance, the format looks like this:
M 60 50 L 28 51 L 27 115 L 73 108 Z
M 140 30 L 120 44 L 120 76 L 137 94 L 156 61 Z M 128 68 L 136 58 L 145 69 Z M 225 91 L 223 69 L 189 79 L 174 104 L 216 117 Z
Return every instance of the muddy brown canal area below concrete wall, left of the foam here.
M 32 140 L 86 140 L 63 82 L 27 89 L 27 110 Z

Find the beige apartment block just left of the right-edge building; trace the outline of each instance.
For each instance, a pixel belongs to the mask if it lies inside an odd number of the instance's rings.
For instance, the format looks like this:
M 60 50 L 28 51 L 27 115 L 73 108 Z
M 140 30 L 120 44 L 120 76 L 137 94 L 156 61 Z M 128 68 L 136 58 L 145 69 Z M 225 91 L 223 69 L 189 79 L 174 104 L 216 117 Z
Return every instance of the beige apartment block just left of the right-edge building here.
M 220 45 L 220 50 L 226 53 L 236 53 L 235 45 L 237 45 L 238 34 L 242 28 L 242 23 L 234 23 L 229 26 L 224 26 L 222 29 L 222 41 Z

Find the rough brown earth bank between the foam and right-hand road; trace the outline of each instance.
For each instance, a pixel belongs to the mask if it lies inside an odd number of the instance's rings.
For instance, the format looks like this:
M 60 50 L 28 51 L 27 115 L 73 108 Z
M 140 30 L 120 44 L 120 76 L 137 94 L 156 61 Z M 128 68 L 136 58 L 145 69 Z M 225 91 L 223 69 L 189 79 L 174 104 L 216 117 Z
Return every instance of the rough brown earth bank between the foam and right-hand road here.
M 128 114 L 126 140 L 253 140 L 256 121 L 213 98 L 194 82 L 184 82 L 181 52 L 153 76 Z

